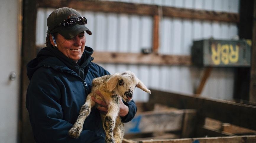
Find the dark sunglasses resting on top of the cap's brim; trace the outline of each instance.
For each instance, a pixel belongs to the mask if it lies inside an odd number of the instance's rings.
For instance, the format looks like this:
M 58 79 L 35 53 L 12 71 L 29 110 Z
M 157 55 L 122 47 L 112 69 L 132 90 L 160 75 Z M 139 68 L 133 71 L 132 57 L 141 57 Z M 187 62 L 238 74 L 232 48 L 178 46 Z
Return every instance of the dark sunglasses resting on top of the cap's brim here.
M 69 18 L 69 19 L 63 20 L 57 26 L 70 27 L 70 26 L 74 26 L 76 22 L 78 22 L 80 25 L 85 25 L 87 24 L 87 19 L 85 17 Z

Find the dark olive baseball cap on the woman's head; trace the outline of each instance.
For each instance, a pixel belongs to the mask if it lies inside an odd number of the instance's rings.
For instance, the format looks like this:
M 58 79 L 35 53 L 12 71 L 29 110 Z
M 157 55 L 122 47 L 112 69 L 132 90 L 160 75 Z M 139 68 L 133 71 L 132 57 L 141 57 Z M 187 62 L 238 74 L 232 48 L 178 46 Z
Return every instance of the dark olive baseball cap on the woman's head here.
M 86 31 L 87 34 L 91 35 L 92 32 L 85 27 L 85 25 L 75 24 L 74 26 L 64 27 L 57 26 L 63 20 L 75 17 L 82 17 L 76 10 L 69 7 L 61 7 L 55 9 L 47 18 L 47 27 L 49 34 L 59 33 L 66 39 L 72 39 L 77 34 Z

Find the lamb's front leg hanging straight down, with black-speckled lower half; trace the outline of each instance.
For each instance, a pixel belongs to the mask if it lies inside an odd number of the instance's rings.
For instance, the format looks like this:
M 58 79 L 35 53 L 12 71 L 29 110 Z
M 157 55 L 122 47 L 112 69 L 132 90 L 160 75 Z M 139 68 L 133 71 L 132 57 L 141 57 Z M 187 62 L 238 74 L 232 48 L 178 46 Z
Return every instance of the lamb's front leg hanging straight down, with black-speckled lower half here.
M 108 113 L 104 118 L 103 128 L 106 132 L 106 143 L 115 143 L 114 142 L 114 127 L 116 123 L 116 117 L 118 116 L 119 112 L 119 95 L 112 95 L 109 105 L 108 105 Z

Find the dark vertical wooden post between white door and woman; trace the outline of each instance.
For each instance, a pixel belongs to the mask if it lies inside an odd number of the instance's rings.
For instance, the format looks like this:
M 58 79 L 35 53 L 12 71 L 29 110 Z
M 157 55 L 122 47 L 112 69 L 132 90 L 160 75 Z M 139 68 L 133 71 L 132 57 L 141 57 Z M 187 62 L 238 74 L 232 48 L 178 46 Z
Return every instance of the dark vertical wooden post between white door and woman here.
M 35 58 L 35 27 L 36 27 L 36 1 L 23 1 L 23 31 L 22 31 L 22 72 L 21 72 L 21 142 L 33 143 L 34 137 L 29 121 L 27 109 L 25 107 L 27 87 L 29 79 L 27 77 L 27 63 Z

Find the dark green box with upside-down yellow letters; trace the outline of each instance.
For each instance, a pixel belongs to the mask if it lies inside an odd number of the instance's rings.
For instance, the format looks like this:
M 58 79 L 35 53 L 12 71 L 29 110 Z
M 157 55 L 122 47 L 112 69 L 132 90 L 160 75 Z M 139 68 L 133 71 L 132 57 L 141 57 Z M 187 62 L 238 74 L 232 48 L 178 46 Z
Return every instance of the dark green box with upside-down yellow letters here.
M 251 47 L 246 40 L 205 39 L 194 41 L 192 63 L 198 66 L 249 67 Z

